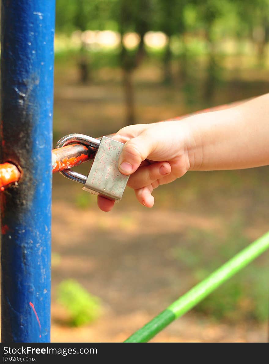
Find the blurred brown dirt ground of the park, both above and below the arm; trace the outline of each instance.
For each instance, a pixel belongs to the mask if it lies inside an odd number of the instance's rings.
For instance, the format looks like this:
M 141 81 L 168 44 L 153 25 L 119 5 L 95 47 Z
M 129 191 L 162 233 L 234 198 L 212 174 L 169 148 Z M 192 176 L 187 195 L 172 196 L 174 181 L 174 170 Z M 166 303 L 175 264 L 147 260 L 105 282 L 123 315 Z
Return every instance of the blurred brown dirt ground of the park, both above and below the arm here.
M 253 71 L 254 72 L 254 71 Z M 241 80 L 216 94 L 215 104 L 231 102 L 269 90 L 268 72 Z M 266 73 L 267 72 L 267 73 Z M 187 107 L 180 88 L 159 83 L 160 70 L 142 68 L 135 74 L 138 122 L 172 118 L 201 108 Z M 76 68 L 56 64 L 54 139 L 72 132 L 93 137 L 124 126 L 123 95 L 118 70 L 102 70 L 87 86 L 77 83 Z M 87 173 L 87 163 L 80 167 Z M 251 241 L 268 230 L 268 168 L 231 172 L 189 173 L 180 181 L 156 191 L 156 205 L 147 210 L 136 203 L 130 190 L 111 213 L 99 211 L 95 197 L 61 175 L 53 179 L 52 341 L 123 341 L 197 279 L 192 267 L 175 258 L 175 249 L 189 249 L 190 229 L 221 237 L 233 221 Z M 85 196 L 85 197 L 84 197 Z M 86 201 L 86 202 L 85 202 Z M 237 220 L 236 220 L 237 221 Z M 192 242 L 201 266 L 216 260 L 221 245 L 206 238 Z M 239 247 L 239 249 L 241 246 Z M 238 250 L 239 250 L 238 249 Z M 231 255 L 232 256 L 232 255 Z M 266 263 L 267 262 L 267 263 Z M 268 254 L 258 260 L 267 264 Z M 103 302 L 103 315 L 82 328 L 64 324 L 57 303 L 57 285 L 78 280 Z M 248 319 L 229 323 L 191 311 L 152 341 L 266 341 L 268 326 Z

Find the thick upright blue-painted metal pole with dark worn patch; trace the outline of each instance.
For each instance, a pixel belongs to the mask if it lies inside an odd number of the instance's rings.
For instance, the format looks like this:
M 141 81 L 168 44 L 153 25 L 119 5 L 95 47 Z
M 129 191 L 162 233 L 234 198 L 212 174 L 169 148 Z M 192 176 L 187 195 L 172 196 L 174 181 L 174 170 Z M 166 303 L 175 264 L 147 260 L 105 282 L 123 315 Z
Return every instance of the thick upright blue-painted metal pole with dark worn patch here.
M 49 342 L 55 0 L 1 3 L 2 342 Z

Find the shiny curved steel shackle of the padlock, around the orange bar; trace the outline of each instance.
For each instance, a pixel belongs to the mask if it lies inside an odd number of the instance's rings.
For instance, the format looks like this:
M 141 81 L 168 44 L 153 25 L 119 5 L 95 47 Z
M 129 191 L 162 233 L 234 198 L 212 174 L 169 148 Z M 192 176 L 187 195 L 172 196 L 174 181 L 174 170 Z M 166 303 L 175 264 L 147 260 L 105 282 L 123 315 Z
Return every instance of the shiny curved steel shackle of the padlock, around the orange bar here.
M 74 134 L 68 134 L 68 135 L 65 135 L 64 137 L 62 137 L 57 142 L 55 148 L 61 148 L 61 147 L 64 147 L 64 146 L 72 144 L 72 143 L 80 143 L 80 144 L 90 146 L 90 147 L 93 147 L 96 149 L 100 145 L 100 141 L 98 139 L 91 138 L 88 135 L 74 133 Z M 85 175 L 74 172 L 71 169 L 62 170 L 62 171 L 60 171 L 60 173 L 63 176 L 65 176 L 66 178 L 72 179 L 72 181 L 82 183 L 83 185 L 87 179 L 87 177 Z

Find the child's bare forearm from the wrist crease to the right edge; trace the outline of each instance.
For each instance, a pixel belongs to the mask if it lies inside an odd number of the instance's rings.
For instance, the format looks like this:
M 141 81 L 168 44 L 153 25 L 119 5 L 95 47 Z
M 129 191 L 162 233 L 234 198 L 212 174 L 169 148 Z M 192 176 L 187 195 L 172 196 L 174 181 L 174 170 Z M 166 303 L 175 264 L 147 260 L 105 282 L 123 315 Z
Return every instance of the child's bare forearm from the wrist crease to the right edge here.
M 190 130 L 187 153 L 191 170 L 269 165 L 269 94 L 183 122 Z

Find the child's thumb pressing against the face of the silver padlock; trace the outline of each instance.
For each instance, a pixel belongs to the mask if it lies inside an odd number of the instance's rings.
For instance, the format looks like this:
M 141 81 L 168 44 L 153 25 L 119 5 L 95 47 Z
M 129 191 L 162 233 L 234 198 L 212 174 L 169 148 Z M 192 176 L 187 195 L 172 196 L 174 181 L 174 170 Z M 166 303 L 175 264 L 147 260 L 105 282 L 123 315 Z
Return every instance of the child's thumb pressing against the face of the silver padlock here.
M 125 143 L 119 157 L 119 171 L 127 175 L 134 173 L 154 148 L 152 139 L 146 133 L 141 133 L 138 137 L 130 139 Z

